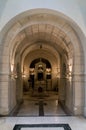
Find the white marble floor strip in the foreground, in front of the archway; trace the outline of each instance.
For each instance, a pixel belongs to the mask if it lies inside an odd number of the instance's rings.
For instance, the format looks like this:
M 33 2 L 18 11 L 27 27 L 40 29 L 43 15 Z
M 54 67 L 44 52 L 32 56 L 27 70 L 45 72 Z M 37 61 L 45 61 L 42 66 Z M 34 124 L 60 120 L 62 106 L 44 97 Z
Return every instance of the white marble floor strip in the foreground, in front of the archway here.
M 86 130 L 86 119 L 81 116 L 53 117 L 4 117 L 0 118 L 0 130 L 13 130 L 15 124 L 69 124 L 71 130 Z M 19 129 L 18 129 L 19 130 Z M 51 128 L 22 128 L 21 130 L 56 130 Z M 57 128 L 57 130 L 64 130 Z M 67 129 L 68 130 L 68 129 Z

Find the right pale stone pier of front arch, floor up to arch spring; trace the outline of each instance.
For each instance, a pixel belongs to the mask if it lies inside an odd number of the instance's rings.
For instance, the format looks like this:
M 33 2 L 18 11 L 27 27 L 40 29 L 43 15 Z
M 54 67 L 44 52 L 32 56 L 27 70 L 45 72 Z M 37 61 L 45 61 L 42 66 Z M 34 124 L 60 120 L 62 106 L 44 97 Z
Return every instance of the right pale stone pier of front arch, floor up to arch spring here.
M 73 65 L 73 113 L 82 115 L 84 109 L 84 65 L 83 55 L 76 52 Z

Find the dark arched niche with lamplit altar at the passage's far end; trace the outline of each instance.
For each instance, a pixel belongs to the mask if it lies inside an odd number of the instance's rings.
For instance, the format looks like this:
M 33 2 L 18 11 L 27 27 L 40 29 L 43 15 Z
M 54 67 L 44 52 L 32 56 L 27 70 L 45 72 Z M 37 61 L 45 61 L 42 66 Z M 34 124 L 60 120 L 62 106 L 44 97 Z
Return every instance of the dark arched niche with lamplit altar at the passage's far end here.
M 51 64 L 44 58 L 38 58 L 30 64 L 30 75 L 29 78 L 32 81 L 32 88 L 39 90 L 39 87 L 44 90 L 51 88 Z M 49 85 L 50 82 L 50 85 Z

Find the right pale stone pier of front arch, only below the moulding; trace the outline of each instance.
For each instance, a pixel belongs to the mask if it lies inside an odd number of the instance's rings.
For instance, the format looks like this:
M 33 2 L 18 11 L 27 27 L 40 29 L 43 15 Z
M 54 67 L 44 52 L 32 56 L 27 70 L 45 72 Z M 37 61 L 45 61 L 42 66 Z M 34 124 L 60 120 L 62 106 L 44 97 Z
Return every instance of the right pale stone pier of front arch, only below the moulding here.
M 82 115 L 84 107 L 84 76 L 82 74 L 73 75 L 73 113 Z

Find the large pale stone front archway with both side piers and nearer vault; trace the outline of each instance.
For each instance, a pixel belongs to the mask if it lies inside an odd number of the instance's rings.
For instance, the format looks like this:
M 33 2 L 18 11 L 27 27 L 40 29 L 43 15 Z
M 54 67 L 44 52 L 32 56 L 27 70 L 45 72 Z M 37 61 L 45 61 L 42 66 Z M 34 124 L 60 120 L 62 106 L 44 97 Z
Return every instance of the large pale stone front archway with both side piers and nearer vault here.
M 28 53 L 37 48 L 39 42 L 46 42 L 45 51 L 51 48 L 57 57 L 60 56 L 61 68 L 65 63 L 72 65 L 72 80 L 69 79 L 65 86 L 62 84 L 60 89 L 59 100 L 65 100 L 66 107 L 75 115 L 83 113 L 83 91 L 84 91 L 84 57 L 82 43 L 77 33 L 77 25 L 70 19 L 58 12 L 47 9 L 34 9 L 22 13 L 8 25 L 4 27 L 5 30 L 1 37 L 1 114 L 8 114 L 16 105 L 16 97 L 14 92 L 16 64 L 19 63 L 19 80 L 21 81 L 22 66 L 24 64 L 24 57 Z M 76 28 L 77 27 L 77 28 Z M 28 52 L 27 52 L 28 50 Z M 6 60 L 4 60 L 6 59 Z M 15 60 L 16 59 L 16 60 Z M 21 66 L 22 63 L 22 66 Z M 13 68 L 13 70 L 12 70 Z M 68 68 L 69 70 L 69 68 Z M 13 74 L 12 74 L 13 73 Z M 64 75 L 61 72 L 61 81 L 64 83 Z M 5 80 L 5 81 L 4 81 Z M 21 93 L 19 100 L 22 100 L 22 81 Z M 68 90 L 68 91 L 67 91 Z M 4 91 L 6 94 L 4 95 Z M 66 94 L 66 97 L 65 97 Z M 14 96 L 13 96 L 14 95 Z M 11 97 L 14 98 L 11 98 Z M 68 99 L 68 97 L 70 97 Z M 11 100 L 10 100 L 11 99 Z M 4 105 L 3 105 L 4 102 Z M 70 104 L 71 103 L 71 104 Z

